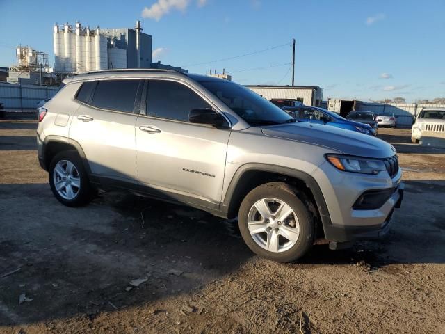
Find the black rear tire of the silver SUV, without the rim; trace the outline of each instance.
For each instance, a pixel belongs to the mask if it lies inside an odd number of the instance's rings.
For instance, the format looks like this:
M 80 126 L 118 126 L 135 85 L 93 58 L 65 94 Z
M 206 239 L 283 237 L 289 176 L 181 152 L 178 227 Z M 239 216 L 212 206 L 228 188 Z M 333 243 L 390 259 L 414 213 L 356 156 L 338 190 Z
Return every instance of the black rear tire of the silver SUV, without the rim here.
M 58 193 L 56 186 L 54 185 L 54 168 L 56 168 L 59 161 L 63 160 L 70 161 L 72 164 L 74 164 L 80 179 L 80 188 L 75 194 L 75 197 L 72 199 L 67 199 L 60 196 L 60 193 Z M 86 170 L 83 168 L 81 158 L 75 150 L 63 151 L 56 154 L 56 156 L 51 160 L 51 164 L 49 164 L 48 178 L 49 185 L 51 186 L 54 196 L 56 196 L 60 203 L 66 205 L 67 207 L 80 207 L 82 205 L 86 205 L 94 196 L 94 190 L 90 186 L 90 181 L 88 180 Z

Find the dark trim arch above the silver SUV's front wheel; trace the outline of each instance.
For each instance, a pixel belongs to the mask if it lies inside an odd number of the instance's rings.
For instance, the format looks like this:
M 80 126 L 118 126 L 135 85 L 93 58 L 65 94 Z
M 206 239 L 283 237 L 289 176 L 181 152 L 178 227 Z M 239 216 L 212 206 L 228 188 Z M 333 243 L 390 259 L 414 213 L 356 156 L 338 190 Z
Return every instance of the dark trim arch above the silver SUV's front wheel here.
M 331 225 L 325 198 L 314 177 L 302 170 L 270 164 L 245 164 L 236 170 L 223 201 L 227 217 L 234 218 L 237 216 L 241 202 L 249 191 L 261 184 L 273 181 L 292 184 L 299 191 L 305 193 L 316 207 L 318 218 L 323 225 L 323 232 L 325 226 Z

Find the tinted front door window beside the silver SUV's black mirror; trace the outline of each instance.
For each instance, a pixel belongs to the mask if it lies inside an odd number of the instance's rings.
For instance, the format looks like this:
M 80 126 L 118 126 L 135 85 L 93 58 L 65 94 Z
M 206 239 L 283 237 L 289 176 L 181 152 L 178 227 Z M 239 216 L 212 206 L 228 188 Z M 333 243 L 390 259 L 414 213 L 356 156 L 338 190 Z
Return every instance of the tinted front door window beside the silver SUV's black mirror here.
M 187 86 L 175 81 L 149 81 L 147 116 L 188 122 L 190 111 L 199 108 L 211 106 Z

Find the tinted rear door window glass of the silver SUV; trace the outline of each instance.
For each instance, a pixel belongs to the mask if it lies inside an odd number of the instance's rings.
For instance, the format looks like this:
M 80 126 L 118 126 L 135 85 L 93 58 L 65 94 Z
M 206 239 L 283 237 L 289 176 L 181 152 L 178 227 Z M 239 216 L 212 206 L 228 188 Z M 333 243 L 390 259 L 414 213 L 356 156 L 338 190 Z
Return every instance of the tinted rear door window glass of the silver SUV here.
M 97 108 L 133 113 L 140 80 L 101 80 L 92 97 Z

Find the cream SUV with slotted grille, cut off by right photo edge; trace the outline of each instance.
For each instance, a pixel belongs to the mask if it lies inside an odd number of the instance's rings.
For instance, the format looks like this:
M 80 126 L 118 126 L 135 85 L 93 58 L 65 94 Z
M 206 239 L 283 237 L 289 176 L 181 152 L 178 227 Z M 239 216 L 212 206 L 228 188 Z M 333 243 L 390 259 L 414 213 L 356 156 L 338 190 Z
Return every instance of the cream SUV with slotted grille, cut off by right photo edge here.
M 419 143 L 423 131 L 445 134 L 445 108 L 422 109 L 412 126 L 412 143 Z

